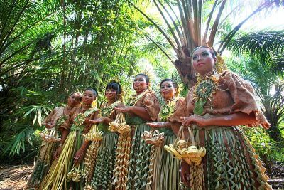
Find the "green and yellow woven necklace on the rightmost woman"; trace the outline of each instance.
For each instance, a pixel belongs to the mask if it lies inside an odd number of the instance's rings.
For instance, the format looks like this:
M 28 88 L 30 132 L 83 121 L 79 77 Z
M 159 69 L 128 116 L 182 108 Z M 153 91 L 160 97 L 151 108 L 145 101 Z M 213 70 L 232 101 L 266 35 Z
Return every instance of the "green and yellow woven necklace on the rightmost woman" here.
M 193 100 L 195 100 L 195 109 L 193 113 L 202 115 L 204 112 L 204 105 L 208 100 L 211 101 L 212 95 L 218 89 L 217 73 L 213 70 L 206 75 L 197 73 L 197 84 L 193 90 Z

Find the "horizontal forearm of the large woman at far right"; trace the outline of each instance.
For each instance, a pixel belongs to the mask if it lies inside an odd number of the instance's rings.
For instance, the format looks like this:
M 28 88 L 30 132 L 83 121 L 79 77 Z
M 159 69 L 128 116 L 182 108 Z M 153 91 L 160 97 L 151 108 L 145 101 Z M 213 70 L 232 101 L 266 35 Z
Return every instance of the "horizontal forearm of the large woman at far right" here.
M 212 116 L 204 118 L 200 115 L 190 115 L 190 117 L 181 117 L 185 126 L 195 124 L 200 127 L 205 126 L 236 126 L 236 125 L 253 125 L 257 122 L 255 115 L 247 115 L 243 112 L 236 112 L 229 115 Z

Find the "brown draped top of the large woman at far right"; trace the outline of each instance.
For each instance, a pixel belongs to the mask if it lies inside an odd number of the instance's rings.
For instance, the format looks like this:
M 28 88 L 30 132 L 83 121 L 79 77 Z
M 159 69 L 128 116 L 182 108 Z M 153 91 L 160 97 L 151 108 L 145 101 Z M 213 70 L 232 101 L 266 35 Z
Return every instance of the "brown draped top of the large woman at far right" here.
M 266 117 L 264 117 L 263 112 L 258 107 L 251 84 L 228 70 L 219 74 L 218 82 L 219 89 L 212 95 L 212 101 L 208 100 L 204 105 L 203 115 L 205 113 L 210 115 L 229 115 L 236 112 L 244 112 L 249 115 L 253 113 L 256 120 L 258 120 L 253 126 L 269 127 Z M 186 97 L 187 115 L 192 115 L 194 110 L 193 89 L 190 88 Z

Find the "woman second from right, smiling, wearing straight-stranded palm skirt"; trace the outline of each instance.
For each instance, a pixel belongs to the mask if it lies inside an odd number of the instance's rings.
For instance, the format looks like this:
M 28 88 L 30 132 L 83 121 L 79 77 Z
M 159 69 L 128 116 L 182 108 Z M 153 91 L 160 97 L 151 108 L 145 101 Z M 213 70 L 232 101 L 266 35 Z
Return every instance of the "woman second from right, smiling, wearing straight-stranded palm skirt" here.
M 160 83 L 160 94 L 164 99 L 164 103 L 160 107 L 159 122 L 147 123 L 150 127 L 158 129 L 159 132 L 165 133 L 164 144 L 166 145 L 175 142 L 175 134 L 178 134 L 181 125 L 180 117 L 185 116 L 185 112 L 182 109 L 177 110 L 177 107 L 182 107 L 185 101 L 183 97 L 178 97 L 178 93 L 177 83 L 171 79 L 162 80 Z M 159 152 L 160 157 L 155 158 L 155 163 L 157 164 L 152 189 L 180 189 L 180 162 L 166 152 L 163 147 L 160 147 Z

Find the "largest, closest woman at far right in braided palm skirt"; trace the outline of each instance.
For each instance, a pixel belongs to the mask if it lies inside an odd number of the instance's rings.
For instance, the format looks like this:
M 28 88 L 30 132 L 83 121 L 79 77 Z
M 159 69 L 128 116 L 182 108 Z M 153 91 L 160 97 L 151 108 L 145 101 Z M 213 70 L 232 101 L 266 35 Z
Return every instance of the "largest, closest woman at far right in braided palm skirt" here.
M 217 73 L 216 64 L 212 48 L 193 51 L 197 84 L 186 97 L 190 116 L 181 119 L 195 129 L 195 142 L 207 153 L 200 165 L 182 162 L 182 181 L 192 189 L 271 189 L 258 155 L 238 127 L 269 124 L 251 85 L 230 71 Z

